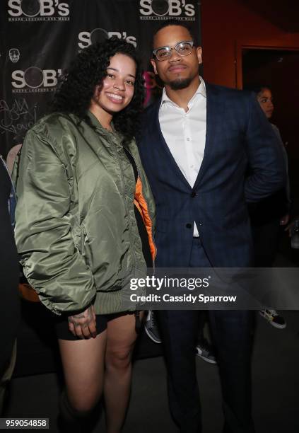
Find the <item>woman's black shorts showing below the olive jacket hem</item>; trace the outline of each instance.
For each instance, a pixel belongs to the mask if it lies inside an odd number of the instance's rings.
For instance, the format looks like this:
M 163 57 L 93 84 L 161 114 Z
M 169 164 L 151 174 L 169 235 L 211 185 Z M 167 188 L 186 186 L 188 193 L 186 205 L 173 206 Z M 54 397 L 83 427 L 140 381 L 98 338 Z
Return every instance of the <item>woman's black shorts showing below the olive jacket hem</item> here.
M 97 323 L 97 335 L 107 329 L 107 323 L 113 319 L 121 316 L 127 316 L 127 314 L 134 314 L 131 311 L 124 311 L 122 313 L 114 314 L 97 314 L 95 320 Z M 54 317 L 54 328 L 56 330 L 57 338 L 60 340 L 81 340 L 79 337 L 75 337 L 69 330 L 69 321 L 66 316 L 55 316 Z

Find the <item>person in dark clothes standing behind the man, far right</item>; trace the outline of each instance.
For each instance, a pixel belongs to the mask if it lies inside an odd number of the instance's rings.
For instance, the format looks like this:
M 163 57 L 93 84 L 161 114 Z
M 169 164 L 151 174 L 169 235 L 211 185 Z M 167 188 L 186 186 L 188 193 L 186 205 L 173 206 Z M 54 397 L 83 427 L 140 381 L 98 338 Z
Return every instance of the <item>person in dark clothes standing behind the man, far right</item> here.
M 266 118 L 270 121 L 274 112 L 274 103 L 269 86 L 251 86 Z M 278 127 L 271 123 L 283 151 L 283 158 L 288 172 L 288 155 L 283 145 Z M 254 262 L 257 267 L 271 267 L 274 263 L 279 242 L 280 226 L 288 224 L 291 207 L 290 183 L 286 187 L 266 197 L 258 203 L 250 204 L 250 220 L 254 240 Z M 274 308 L 259 311 L 259 314 L 275 328 L 286 328 L 286 320 Z

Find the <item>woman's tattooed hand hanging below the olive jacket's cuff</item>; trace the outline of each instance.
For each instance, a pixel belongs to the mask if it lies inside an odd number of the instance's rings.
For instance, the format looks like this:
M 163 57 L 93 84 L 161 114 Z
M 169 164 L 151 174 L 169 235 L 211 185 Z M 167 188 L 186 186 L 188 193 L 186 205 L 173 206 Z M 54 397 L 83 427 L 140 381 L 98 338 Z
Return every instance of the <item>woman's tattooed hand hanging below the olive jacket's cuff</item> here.
M 81 339 L 95 338 L 97 336 L 97 327 L 95 322 L 95 310 L 93 305 L 90 305 L 82 313 L 74 314 L 68 317 L 69 330 L 74 335 Z

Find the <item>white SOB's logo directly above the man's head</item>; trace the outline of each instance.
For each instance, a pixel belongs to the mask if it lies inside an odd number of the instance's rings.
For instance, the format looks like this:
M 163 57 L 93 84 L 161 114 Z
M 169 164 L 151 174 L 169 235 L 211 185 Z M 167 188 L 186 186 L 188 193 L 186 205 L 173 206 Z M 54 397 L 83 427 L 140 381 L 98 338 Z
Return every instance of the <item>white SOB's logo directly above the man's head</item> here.
M 140 0 L 141 20 L 195 21 L 194 4 L 186 0 Z

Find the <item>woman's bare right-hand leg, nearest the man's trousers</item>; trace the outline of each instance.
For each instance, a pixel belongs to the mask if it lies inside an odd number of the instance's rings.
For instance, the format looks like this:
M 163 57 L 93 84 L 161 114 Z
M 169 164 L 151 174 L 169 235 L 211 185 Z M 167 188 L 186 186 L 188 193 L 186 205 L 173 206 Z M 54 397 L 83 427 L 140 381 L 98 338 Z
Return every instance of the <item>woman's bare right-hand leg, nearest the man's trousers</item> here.
M 124 423 L 131 389 L 131 354 L 136 337 L 134 314 L 108 322 L 104 383 L 107 433 L 119 433 Z

